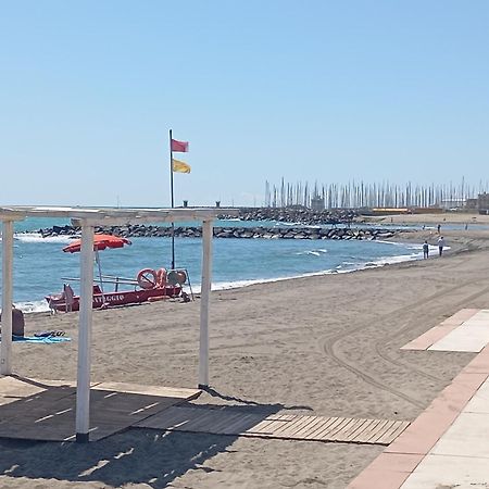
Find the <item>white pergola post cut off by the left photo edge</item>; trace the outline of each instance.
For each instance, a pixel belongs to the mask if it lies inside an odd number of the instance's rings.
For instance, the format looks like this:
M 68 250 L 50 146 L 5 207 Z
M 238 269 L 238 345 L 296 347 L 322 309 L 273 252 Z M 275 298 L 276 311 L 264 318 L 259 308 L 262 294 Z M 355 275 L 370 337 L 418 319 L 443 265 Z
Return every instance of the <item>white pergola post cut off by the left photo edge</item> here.
M 0 374 L 12 374 L 13 222 L 2 226 L 2 341 Z

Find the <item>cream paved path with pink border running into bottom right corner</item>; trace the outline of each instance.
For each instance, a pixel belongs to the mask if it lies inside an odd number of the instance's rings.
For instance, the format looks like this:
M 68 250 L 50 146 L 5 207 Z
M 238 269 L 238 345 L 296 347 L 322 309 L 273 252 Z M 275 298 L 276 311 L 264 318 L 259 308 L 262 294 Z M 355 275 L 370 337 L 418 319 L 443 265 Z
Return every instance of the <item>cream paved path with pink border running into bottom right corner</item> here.
M 489 315 L 481 313 L 453 331 L 464 330 L 469 337 L 474 328 L 485 327 L 481 322 L 489 324 Z M 460 348 L 456 337 L 452 344 Z M 485 344 L 349 489 L 489 488 L 489 346 Z M 449 348 L 448 341 L 443 348 Z

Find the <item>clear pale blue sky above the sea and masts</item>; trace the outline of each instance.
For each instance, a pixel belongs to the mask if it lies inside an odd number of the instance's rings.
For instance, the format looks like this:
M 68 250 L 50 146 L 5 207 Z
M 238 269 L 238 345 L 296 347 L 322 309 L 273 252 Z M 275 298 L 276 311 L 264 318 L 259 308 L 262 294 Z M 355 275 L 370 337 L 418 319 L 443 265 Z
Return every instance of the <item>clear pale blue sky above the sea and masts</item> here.
M 176 204 L 477 185 L 488 60 L 487 1 L 2 1 L 0 204 L 167 206 L 170 128 Z

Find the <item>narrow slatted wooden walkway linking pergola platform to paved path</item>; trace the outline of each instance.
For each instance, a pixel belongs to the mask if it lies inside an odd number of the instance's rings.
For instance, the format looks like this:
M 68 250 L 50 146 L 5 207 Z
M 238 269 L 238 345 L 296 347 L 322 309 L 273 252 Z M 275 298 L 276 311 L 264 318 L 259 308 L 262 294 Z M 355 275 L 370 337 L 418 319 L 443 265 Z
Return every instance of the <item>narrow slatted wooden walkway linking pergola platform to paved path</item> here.
M 172 406 L 133 426 L 171 431 L 387 446 L 409 425 L 410 422 L 391 419 L 266 415 L 229 406 Z

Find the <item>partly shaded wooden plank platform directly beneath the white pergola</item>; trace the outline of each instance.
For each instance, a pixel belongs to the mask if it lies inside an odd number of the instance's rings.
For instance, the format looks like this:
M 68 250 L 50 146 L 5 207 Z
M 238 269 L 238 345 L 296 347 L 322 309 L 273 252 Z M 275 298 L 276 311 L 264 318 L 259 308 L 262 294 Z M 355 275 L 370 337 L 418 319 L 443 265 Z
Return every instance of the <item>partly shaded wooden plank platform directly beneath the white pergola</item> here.
M 200 390 L 95 383 L 90 392 L 90 440 L 100 440 Z M 0 377 L 0 438 L 73 441 L 76 389 L 64 380 Z

